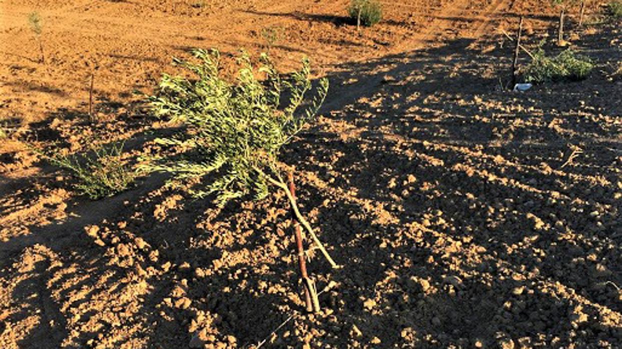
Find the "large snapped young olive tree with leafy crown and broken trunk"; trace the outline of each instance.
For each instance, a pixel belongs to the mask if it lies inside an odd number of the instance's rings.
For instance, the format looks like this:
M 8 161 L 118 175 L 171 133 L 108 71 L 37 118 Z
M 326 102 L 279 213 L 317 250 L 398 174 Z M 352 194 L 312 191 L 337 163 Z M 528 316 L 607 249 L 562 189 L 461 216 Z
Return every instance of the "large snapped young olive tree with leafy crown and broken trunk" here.
M 195 79 L 163 75 L 159 92 L 149 98 L 157 116 L 185 124 L 185 132 L 179 137 L 158 141 L 183 148 L 183 160 L 159 159 L 149 165 L 151 169 L 174 173 L 175 179 L 208 179 L 207 184 L 192 188 L 192 193 L 199 197 L 213 195 L 221 207 L 248 194 L 263 199 L 270 188 L 282 190 L 295 220 L 330 265 L 337 268 L 299 211 L 295 194 L 284 179 L 287 166 L 279 160 L 282 147 L 316 116 L 327 95 L 328 80 L 320 79 L 315 96 L 305 99 L 312 89 L 306 58 L 299 71 L 282 78 L 266 54 L 259 58 L 259 67 L 254 67 L 243 53 L 238 58 L 237 80 L 231 83 L 219 74 L 217 50 L 195 50 L 193 55 L 198 63 L 175 60 L 175 64 L 193 73 Z M 318 310 L 315 285 L 303 270 L 304 250 L 300 250 L 302 244 L 297 245 L 302 256 L 299 261 L 307 309 Z

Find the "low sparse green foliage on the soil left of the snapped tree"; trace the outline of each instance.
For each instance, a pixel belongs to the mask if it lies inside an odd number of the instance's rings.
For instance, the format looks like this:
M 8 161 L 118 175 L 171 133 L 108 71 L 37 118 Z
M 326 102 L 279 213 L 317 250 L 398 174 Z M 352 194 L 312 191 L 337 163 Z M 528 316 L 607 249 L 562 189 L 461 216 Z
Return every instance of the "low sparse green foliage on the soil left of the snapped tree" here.
M 52 165 L 70 171 L 78 180 L 75 188 L 93 200 L 121 193 L 139 176 L 123 160 L 123 143 L 93 148 L 92 154 L 85 156 L 39 153 Z

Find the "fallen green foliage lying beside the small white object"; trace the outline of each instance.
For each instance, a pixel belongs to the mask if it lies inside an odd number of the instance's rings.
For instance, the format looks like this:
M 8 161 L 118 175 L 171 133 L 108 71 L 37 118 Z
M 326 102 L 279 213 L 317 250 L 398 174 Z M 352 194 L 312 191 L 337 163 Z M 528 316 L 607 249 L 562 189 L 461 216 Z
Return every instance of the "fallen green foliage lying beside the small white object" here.
M 524 71 L 524 79 L 530 83 L 555 81 L 579 81 L 587 78 L 594 68 L 590 58 L 564 50 L 554 58 L 547 57 L 540 49 Z

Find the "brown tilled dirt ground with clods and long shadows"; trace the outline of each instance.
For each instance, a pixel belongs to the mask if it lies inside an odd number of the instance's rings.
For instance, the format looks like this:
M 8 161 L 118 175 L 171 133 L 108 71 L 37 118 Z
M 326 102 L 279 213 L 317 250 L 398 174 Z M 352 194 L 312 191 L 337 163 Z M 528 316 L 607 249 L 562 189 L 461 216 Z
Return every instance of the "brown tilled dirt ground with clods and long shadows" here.
M 0 0 L 0 348 L 622 347 L 620 23 L 590 4 L 569 39 L 592 76 L 508 93 L 496 29 L 525 14 L 535 47 L 545 2 L 386 2 L 362 33 L 347 3 Z M 150 152 L 170 130 L 132 91 L 188 48 L 258 52 L 269 25 L 282 70 L 309 55 L 332 82 L 285 154 L 345 266 L 310 262 L 338 283 L 322 314 L 300 313 L 284 197 L 216 209 L 154 175 L 88 201 L 23 147 Z

